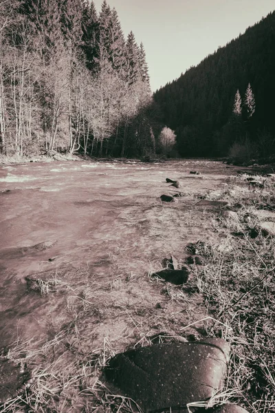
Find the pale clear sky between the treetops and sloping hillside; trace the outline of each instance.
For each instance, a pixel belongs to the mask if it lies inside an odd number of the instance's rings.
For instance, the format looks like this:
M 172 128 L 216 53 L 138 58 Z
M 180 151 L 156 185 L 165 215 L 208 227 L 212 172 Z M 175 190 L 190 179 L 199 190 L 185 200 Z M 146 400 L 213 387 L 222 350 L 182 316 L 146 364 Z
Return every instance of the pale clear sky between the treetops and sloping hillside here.
M 94 0 L 96 10 L 102 0 Z M 274 0 L 107 0 L 144 45 L 155 92 L 275 10 Z

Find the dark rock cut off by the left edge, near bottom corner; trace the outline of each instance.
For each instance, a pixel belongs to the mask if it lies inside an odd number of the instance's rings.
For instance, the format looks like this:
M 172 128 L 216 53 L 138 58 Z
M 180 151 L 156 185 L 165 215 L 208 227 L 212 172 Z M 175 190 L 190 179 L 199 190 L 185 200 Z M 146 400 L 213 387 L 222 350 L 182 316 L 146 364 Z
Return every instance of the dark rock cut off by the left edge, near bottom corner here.
M 16 397 L 30 377 L 30 371 L 20 364 L 0 358 L 0 403 Z

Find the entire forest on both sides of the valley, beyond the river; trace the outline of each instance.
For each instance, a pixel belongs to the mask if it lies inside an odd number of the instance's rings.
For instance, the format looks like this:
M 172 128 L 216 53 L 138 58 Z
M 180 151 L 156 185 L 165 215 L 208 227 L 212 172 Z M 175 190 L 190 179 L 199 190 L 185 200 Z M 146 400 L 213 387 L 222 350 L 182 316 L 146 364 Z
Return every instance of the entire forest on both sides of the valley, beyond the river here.
M 152 95 L 144 46 L 106 0 L 2 0 L 0 153 L 270 156 L 274 24 L 275 12 Z

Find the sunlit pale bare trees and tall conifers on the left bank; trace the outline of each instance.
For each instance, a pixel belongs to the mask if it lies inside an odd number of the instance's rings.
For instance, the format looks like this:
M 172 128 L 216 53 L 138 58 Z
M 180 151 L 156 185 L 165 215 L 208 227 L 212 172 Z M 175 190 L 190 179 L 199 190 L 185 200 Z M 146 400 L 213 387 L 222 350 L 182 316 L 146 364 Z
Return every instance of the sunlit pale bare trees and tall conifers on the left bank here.
M 146 54 L 116 10 L 85 0 L 1 0 L 0 153 L 155 153 Z

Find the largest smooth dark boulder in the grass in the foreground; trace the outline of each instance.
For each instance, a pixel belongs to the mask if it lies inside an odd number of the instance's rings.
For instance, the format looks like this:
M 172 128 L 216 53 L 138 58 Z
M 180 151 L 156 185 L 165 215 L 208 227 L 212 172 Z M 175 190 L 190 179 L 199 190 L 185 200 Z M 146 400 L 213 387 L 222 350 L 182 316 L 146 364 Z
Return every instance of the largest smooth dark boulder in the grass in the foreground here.
M 218 338 L 129 350 L 109 361 L 101 380 L 133 399 L 144 413 L 186 408 L 222 388 L 229 350 L 229 343 Z

